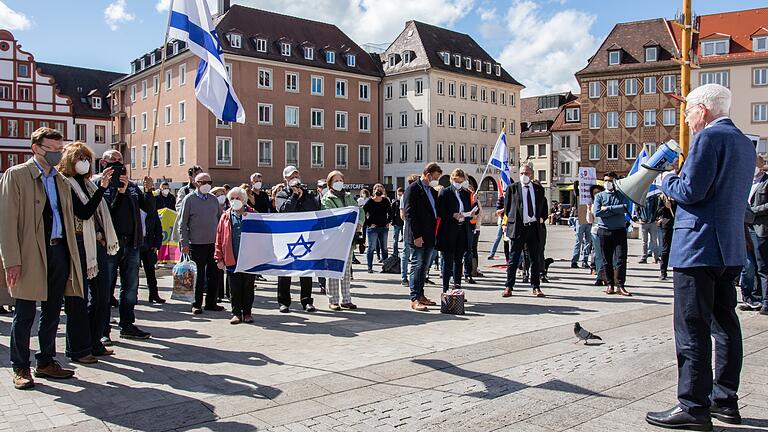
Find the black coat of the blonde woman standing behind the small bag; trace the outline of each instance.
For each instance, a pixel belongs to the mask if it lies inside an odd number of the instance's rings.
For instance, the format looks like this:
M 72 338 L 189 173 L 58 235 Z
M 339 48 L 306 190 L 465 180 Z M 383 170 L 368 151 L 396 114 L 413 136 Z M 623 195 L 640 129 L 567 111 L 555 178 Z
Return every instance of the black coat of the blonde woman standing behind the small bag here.
M 459 198 L 464 205 L 465 213 L 472 210 L 469 192 L 464 189 L 460 190 Z M 460 224 L 453 218 L 453 214 L 459 213 L 459 210 L 459 201 L 456 199 L 453 187 L 443 188 L 437 197 L 437 217 L 440 222 L 437 227 L 435 247 L 440 251 L 463 253 L 466 250 L 466 235 L 471 225 L 469 223 L 470 218 L 466 218 Z

